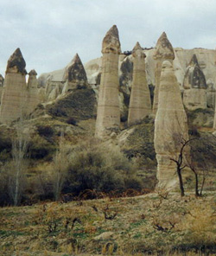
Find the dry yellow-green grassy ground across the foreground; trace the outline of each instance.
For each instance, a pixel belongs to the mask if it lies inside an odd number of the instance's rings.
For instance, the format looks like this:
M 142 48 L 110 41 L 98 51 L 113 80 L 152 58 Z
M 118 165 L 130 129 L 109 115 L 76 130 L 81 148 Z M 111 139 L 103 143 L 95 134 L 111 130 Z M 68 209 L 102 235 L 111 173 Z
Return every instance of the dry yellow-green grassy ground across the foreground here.
M 181 199 L 172 194 L 164 199 L 149 194 L 1 208 L 0 252 L 177 256 L 186 251 L 192 256 L 206 246 L 208 252 L 215 253 L 214 196 L 196 199 L 188 195 Z M 105 212 L 116 215 L 106 219 Z

